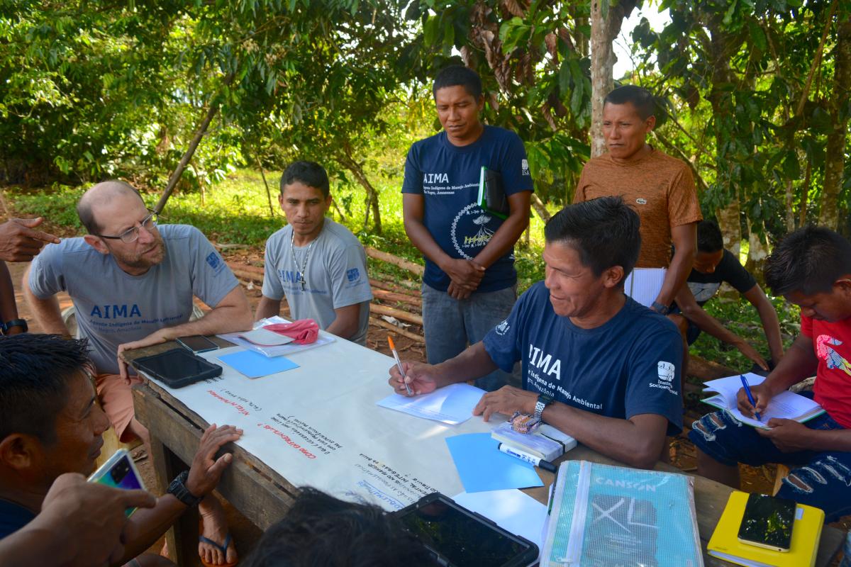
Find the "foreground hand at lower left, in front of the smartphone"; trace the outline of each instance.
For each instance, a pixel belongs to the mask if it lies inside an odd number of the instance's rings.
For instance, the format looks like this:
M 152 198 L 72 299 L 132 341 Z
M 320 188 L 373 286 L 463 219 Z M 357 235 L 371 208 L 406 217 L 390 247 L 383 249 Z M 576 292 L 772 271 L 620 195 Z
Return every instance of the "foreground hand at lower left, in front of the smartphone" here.
M 146 490 L 112 488 L 66 473 L 54 480 L 33 524 L 44 522 L 52 536 L 66 536 L 66 546 L 74 550 L 70 565 L 113 564 L 124 554 L 125 510 L 156 502 Z

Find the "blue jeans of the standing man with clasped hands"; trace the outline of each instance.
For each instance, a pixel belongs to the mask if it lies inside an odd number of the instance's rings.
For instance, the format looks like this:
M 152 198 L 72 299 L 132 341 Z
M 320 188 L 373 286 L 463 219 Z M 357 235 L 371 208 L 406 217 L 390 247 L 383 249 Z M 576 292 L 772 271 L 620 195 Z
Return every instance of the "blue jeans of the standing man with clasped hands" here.
M 515 287 L 506 287 L 454 299 L 447 292 L 423 284 L 422 298 L 426 358 L 429 364 L 439 364 L 461 354 L 468 343 L 478 343 L 494 326 L 507 319 L 517 301 L 517 291 Z M 496 370 L 476 380 L 476 385 L 488 392 L 505 384 L 520 387 L 517 365 L 511 374 Z

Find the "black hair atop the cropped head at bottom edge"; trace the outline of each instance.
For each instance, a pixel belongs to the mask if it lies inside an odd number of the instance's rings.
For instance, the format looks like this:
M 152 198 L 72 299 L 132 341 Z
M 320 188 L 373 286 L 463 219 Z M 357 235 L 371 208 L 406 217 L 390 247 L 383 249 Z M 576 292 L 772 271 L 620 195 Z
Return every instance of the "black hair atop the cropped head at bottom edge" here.
M 434 567 L 425 546 L 380 507 L 302 488 L 245 567 Z

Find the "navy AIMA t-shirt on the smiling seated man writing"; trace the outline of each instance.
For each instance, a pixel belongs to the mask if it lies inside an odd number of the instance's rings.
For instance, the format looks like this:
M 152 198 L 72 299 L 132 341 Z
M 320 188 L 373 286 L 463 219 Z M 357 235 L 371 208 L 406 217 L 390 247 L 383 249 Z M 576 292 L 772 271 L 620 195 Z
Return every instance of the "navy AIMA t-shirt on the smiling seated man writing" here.
M 525 390 L 606 417 L 665 416 L 669 435 L 683 428 L 683 339 L 670 320 L 631 298 L 603 325 L 582 329 L 556 315 L 539 281 L 483 342 L 505 371 L 522 361 Z

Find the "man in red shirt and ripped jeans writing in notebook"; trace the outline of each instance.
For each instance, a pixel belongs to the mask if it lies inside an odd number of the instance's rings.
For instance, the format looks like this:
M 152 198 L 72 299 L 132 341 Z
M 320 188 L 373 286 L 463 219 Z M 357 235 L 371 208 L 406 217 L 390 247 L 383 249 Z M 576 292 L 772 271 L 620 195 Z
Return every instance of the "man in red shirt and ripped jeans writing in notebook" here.
M 801 307 L 801 335 L 764 382 L 738 394 L 748 417 L 775 396 L 815 374 L 814 400 L 825 413 L 808 422 L 768 420 L 751 428 L 717 411 L 694 422 L 698 473 L 738 488 L 739 463 L 790 465 L 777 496 L 825 511 L 825 521 L 851 513 L 851 242 L 832 230 L 807 227 L 786 236 L 765 266 L 775 293 Z

